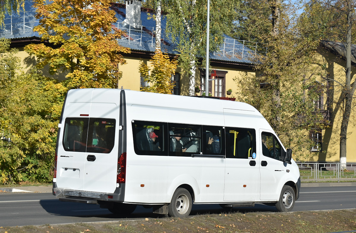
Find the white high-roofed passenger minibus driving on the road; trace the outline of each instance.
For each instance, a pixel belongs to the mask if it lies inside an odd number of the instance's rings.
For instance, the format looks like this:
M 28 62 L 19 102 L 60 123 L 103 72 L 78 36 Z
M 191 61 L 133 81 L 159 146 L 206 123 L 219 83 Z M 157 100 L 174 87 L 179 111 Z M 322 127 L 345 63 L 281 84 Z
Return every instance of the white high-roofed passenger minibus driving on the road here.
M 53 194 L 112 213 L 173 217 L 192 204 L 292 210 L 300 175 L 251 105 L 120 89 L 70 90 L 58 125 Z

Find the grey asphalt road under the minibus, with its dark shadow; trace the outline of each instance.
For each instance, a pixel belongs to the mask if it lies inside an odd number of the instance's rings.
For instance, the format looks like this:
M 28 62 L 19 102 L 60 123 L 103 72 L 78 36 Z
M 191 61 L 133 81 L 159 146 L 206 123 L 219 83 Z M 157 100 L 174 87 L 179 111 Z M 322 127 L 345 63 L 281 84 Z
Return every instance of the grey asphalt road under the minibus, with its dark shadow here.
M 356 208 L 356 186 L 303 187 L 293 211 Z M 276 207 L 233 208 L 232 211 L 276 212 Z M 193 205 L 191 215 L 226 212 L 219 205 Z M 0 193 L 0 226 L 25 226 L 73 222 L 159 218 L 152 208 L 138 206 L 131 215 L 117 216 L 99 205 L 62 202 L 51 193 Z

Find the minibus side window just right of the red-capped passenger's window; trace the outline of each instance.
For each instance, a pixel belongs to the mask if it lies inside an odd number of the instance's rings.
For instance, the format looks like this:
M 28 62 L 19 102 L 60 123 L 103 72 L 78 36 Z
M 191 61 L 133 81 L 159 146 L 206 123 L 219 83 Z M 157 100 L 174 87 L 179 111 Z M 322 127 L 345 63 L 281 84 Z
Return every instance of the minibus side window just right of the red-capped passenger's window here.
M 201 152 L 201 126 L 168 123 L 169 155 L 192 156 Z

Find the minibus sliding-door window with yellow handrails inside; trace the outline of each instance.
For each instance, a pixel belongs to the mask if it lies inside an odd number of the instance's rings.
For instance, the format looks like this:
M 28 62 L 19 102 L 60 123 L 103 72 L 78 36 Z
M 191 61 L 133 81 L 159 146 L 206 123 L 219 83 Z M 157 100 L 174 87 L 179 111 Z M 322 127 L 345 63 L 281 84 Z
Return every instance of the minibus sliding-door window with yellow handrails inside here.
M 225 128 L 226 158 L 250 158 L 256 153 L 256 130 Z

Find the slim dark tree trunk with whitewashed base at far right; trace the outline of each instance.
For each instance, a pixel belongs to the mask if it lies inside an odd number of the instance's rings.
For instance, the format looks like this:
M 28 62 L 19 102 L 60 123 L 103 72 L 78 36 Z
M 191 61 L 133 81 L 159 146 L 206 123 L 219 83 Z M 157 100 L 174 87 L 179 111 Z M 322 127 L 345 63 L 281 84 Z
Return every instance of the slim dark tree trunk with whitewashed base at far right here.
M 346 141 L 347 141 L 347 126 L 351 114 L 351 27 L 352 27 L 352 5 L 351 1 L 347 1 L 347 33 L 346 33 L 346 81 L 344 88 L 344 103 L 345 109 L 342 115 L 341 130 L 340 130 L 340 163 L 341 169 L 346 168 Z

